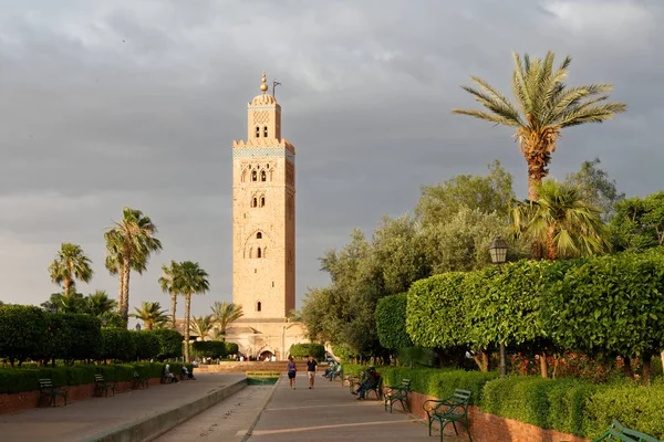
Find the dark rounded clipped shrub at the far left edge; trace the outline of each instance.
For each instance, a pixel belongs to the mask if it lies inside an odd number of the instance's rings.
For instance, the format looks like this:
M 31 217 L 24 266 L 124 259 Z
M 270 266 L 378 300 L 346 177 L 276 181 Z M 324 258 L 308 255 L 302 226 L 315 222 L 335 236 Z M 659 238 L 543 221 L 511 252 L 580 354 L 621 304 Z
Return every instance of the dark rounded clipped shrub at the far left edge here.
M 13 366 L 39 352 L 44 338 L 43 312 L 30 305 L 0 305 L 0 357 Z

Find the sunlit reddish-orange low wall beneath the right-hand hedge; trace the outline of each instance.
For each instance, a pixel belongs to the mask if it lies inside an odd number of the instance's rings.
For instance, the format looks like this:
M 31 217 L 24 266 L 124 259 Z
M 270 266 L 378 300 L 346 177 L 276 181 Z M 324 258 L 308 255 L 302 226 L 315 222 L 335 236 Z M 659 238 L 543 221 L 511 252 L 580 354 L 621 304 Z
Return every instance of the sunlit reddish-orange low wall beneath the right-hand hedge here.
M 423 404 L 427 400 L 436 400 L 428 394 L 418 392 L 408 393 L 411 400 L 411 413 L 417 418 L 426 420 L 426 412 Z M 397 406 L 398 408 L 398 406 Z M 496 414 L 484 413 L 479 407 L 470 406 L 468 408 L 468 418 L 470 421 L 470 434 L 477 442 L 510 441 L 510 442 L 587 442 L 588 439 L 577 435 L 562 433 L 556 430 L 544 430 L 529 423 L 523 423 L 515 419 L 508 419 Z M 434 423 L 434 425 L 437 424 Z M 463 425 L 457 424 L 459 434 L 466 435 Z M 454 434 L 454 428 L 447 425 L 445 434 Z

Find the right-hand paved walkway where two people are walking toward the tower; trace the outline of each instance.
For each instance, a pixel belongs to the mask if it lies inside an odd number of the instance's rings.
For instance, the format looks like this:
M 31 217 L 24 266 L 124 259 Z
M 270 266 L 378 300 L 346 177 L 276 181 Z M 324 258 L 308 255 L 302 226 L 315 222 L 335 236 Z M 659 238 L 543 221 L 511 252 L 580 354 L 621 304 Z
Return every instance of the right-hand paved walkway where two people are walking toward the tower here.
M 359 401 L 338 381 L 330 382 L 319 376 L 312 390 L 305 382 L 304 376 L 298 376 L 297 389 L 291 390 L 288 379 L 280 379 L 249 442 L 439 440 L 437 432 L 428 436 L 422 421 L 403 412 L 384 411 L 383 402 L 376 401 L 373 393 L 372 399 Z M 448 442 L 464 440 L 445 434 Z

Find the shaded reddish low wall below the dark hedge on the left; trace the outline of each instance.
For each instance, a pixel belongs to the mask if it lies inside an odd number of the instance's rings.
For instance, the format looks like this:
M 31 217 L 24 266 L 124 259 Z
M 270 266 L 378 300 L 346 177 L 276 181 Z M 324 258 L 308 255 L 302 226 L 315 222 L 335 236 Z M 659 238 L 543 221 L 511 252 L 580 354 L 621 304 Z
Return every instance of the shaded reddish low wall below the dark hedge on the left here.
M 160 378 L 151 378 L 149 385 L 159 385 Z M 134 386 L 134 381 L 121 381 L 115 383 L 115 393 L 128 391 Z M 81 386 L 62 387 L 66 390 L 66 403 L 73 403 L 82 400 L 92 399 L 94 397 L 94 383 L 84 383 Z M 111 393 L 112 394 L 112 393 Z M 18 413 L 39 407 L 40 391 L 21 391 L 18 393 L 0 394 L 0 414 Z M 56 398 L 56 404 L 62 406 L 64 400 Z M 48 399 L 42 399 L 42 407 L 48 404 Z

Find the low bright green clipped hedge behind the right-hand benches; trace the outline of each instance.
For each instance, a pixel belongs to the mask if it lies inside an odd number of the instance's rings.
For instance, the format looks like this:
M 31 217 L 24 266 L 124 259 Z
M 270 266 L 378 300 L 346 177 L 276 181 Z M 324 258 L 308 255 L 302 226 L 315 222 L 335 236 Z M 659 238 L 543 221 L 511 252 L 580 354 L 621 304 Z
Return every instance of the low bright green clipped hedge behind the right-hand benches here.
M 359 375 L 365 366 L 343 364 L 344 373 Z M 516 419 L 542 429 L 598 438 L 613 419 L 664 439 L 664 382 L 650 387 L 630 380 L 594 385 L 577 379 L 509 377 L 496 372 L 452 369 L 377 367 L 386 386 L 411 379 L 414 391 L 446 398 L 455 389 L 473 391 L 470 403 L 485 413 Z

